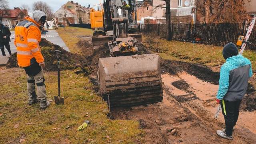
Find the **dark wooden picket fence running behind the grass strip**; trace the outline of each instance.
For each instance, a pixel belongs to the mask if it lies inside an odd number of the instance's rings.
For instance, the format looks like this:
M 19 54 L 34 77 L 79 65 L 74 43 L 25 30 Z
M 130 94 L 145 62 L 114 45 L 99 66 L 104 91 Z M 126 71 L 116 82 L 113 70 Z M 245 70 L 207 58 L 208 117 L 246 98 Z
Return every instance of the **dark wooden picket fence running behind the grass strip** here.
M 220 23 L 220 24 L 171 24 L 172 40 L 194 42 L 224 46 L 228 42 L 236 44 L 238 36 L 245 36 L 250 23 Z M 155 34 L 166 37 L 166 24 L 139 24 L 138 32 L 143 34 Z M 248 40 L 248 48 L 256 50 L 256 26 L 254 26 Z

